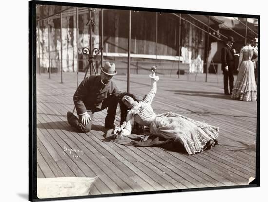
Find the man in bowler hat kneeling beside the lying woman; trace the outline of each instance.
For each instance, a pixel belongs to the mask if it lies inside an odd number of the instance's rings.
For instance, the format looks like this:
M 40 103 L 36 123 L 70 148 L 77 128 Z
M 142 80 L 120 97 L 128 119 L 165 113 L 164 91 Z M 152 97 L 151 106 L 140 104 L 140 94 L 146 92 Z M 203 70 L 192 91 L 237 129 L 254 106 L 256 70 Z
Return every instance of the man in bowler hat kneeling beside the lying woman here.
M 106 62 L 104 67 L 101 67 L 100 75 L 89 76 L 80 83 L 74 94 L 74 103 L 79 119 L 72 112 L 67 112 L 67 120 L 71 126 L 80 132 L 89 132 L 93 113 L 108 107 L 105 127 L 107 129 L 114 127 L 118 104 L 117 96 L 120 94 L 119 89 L 112 81 L 116 73 L 115 64 Z

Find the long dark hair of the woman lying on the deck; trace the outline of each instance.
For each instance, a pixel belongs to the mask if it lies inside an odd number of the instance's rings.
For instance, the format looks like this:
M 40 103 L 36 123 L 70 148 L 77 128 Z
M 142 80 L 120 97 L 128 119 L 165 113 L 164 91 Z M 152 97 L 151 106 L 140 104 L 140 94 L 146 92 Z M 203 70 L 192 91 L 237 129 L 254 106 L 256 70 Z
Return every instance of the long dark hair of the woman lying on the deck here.
M 134 101 L 141 101 L 140 99 L 138 99 L 135 95 L 131 94 L 131 93 L 128 93 L 128 92 L 124 92 L 124 93 L 121 93 L 118 97 L 118 102 L 119 102 L 119 106 L 120 106 L 120 111 L 121 111 L 121 120 L 120 120 L 120 125 L 122 125 L 122 123 L 124 121 L 127 120 L 127 114 L 128 114 L 128 110 L 129 108 L 122 102 L 122 98 L 124 96 L 130 96 L 133 98 Z M 146 95 L 145 95 L 146 96 Z M 144 98 L 143 98 L 144 99 Z M 132 133 L 135 133 L 135 134 L 142 134 L 144 133 L 144 126 L 143 125 L 140 125 L 138 124 L 137 122 L 134 123 L 134 126 L 132 127 L 132 130 L 131 130 Z

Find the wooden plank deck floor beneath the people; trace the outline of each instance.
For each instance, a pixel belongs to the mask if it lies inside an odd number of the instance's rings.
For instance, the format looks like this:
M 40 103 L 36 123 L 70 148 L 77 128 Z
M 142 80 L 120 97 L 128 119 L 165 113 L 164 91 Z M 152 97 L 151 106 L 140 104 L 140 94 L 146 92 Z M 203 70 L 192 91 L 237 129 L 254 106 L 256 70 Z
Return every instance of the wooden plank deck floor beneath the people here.
M 257 102 L 234 101 L 223 94 L 222 75 L 161 76 L 153 108 L 172 111 L 220 127 L 219 145 L 188 156 L 158 147 L 131 147 L 106 141 L 106 112 L 95 113 L 93 129 L 77 133 L 66 113 L 73 110 L 76 74 L 38 75 L 37 174 L 48 177 L 95 177 L 90 194 L 171 190 L 248 184 L 255 177 Z M 79 82 L 83 73 L 79 73 Z M 124 91 L 126 76 L 114 77 Z M 130 90 L 143 96 L 150 89 L 147 75 L 131 75 Z M 117 118 L 118 119 L 118 118 Z M 118 120 L 117 120 L 118 121 Z M 74 152 L 76 149 L 80 158 Z M 79 152 L 78 152 L 79 150 Z M 83 151 L 83 153 L 81 152 Z

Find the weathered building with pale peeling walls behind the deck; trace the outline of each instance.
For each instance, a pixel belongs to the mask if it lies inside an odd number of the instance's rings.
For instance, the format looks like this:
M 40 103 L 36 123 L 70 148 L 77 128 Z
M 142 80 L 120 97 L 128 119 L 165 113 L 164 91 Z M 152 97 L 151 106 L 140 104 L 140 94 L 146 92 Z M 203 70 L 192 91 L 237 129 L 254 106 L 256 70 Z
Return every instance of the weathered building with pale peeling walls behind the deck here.
M 40 6 L 37 8 L 37 19 L 47 17 L 51 14 L 58 13 L 66 9 L 63 6 Z M 71 8 L 63 13 L 63 70 L 76 71 L 76 19 L 74 9 Z M 79 36 L 78 47 L 89 46 L 89 21 L 88 8 L 79 8 Z M 101 30 L 101 12 L 96 9 L 93 12 L 93 20 L 95 27 L 93 30 L 94 47 L 100 46 L 100 30 Z M 242 22 L 244 18 L 239 19 Z M 179 14 L 158 13 L 158 38 L 157 38 L 157 55 L 161 56 L 178 56 L 184 57 L 183 63 L 200 61 L 200 64 L 207 65 L 207 45 L 209 44 L 210 64 L 213 58 L 214 63 L 220 63 L 219 52 L 224 46 L 225 36 L 233 36 L 237 41 L 234 47 L 237 51 L 243 45 L 244 39 L 237 33 L 245 35 L 245 26 L 239 20 L 210 17 L 210 36 L 208 41 L 207 25 L 208 16 L 204 15 L 188 15 L 181 14 L 181 29 L 179 27 Z M 59 15 L 51 17 L 50 22 L 50 62 L 48 61 L 48 28 L 47 20 L 40 21 L 40 63 L 41 67 L 59 68 L 60 62 L 60 19 Z M 257 22 L 248 23 L 249 28 L 257 31 Z M 126 10 L 105 9 L 104 10 L 104 47 L 105 53 L 127 53 L 128 51 L 128 27 L 129 13 Z M 138 11 L 132 12 L 131 22 L 131 53 L 142 55 L 156 54 L 156 13 Z M 179 32 L 181 31 L 181 37 Z M 38 35 L 38 33 L 37 33 Z M 179 41 L 180 40 L 180 41 Z M 38 41 L 37 41 L 38 42 Z M 180 44 L 180 46 L 179 46 Z M 38 44 L 37 44 L 38 47 Z M 38 50 L 38 48 L 37 48 Z M 109 54 L 106 54 L 109 55 Z M 111 55 L 111 54 L 110 54 Z M 38 56 L 38 54 L 37 54 Z M 115 56 L 110 56 L 115 59 Z M 210 59 L 211 58 L 211 59 Z M 87 61 L 79 53 L 79 70 L 82 71 L 87 65 Z M 126 57 L 117 59 L 126 60 Z M 153 61 L 150 57 L 133 58 L 132 61 Z M 190 67 L 191 68 L 191 65 Z M 200 69 L 200 67 L 198 67 Z M 198 72 L 200 72 L 198 70 Z

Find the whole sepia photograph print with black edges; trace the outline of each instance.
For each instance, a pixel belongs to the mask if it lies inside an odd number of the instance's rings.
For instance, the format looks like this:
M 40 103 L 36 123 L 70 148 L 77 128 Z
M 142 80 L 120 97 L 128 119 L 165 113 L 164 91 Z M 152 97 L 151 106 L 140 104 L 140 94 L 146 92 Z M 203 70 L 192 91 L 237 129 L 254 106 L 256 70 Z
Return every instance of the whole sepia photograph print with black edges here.
M 259 21 L 29 1 L 29 200 L 260 186 Z

